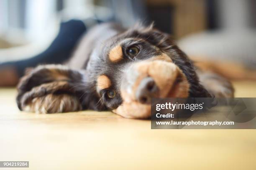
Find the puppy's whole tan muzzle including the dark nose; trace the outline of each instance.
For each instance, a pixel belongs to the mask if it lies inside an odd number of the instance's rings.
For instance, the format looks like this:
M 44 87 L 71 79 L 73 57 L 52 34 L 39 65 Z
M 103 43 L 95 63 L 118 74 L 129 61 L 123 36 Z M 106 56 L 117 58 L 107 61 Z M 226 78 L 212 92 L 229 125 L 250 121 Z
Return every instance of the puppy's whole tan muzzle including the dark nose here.
M 153 97 L 188 97 L 189 84 L 183 72 L 163 60 L 136 62 L 125 71 L 121 82 L 123 103 L 115 110 L 128 118 L 151 116 Z

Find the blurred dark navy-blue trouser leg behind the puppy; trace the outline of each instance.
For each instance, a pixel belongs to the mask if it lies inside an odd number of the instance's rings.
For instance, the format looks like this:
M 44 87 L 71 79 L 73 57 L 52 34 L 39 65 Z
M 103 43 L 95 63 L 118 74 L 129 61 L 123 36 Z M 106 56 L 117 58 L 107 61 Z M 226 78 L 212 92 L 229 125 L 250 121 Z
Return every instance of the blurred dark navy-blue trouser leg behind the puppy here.
M 13 66 L 18 76 L 21 77 L 24 75 L 26 67 L 64 62 L 69 59 L 74 47 L 86 30 L 87 28 L 81 20 L 69 20 L 61 23 L 58 35 L 44 52 L 29 59 L 4 62 L 0 64 L 0 67 Z

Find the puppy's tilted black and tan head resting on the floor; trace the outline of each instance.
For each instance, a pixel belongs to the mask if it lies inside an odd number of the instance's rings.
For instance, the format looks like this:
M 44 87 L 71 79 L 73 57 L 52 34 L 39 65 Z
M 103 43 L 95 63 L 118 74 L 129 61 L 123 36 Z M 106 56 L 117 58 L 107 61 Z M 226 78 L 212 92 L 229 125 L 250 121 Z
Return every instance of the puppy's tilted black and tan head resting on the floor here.
M 191 60 L 152 25 L 100 43 L 86 70 L 84 105 L 107 107 L 124 117 L 150 117 L 152 97 L 210 97 Z

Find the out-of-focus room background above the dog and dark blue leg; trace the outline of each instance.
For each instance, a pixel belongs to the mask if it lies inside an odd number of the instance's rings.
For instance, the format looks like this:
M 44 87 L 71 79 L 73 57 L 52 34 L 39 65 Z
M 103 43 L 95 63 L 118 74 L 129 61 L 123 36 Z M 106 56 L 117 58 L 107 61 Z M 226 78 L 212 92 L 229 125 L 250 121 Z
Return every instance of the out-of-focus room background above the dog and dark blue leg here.
M 61 22 L 97 18 L 125 27 L 154 21 L 188 55 L 251 69 L 256 67 L 255 16 L 255 0 L 0 0 L 0 62 L 42 51 Z

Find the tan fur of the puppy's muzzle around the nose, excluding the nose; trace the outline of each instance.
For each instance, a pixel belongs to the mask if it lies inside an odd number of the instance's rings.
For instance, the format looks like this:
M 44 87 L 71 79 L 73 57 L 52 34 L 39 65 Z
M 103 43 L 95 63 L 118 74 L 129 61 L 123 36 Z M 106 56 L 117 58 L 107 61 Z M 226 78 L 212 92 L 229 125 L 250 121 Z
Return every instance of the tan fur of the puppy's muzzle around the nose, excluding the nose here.
M 132 88 L 132 94 L 125 89 L 121 90 L 123 103 L 113 110 L 118 115 L 126 118 L 148 118 L 151 116 L 151 105 L 141 104 L 136 101 L 135 93 L 143 78 L 150 76 L 159 88 L 158 97 L 188 97 L 189 83 L 183 72 L 172 62 L 163 60 L 148 60 L 134 65 L 139 76 Z

